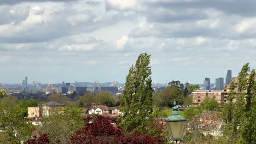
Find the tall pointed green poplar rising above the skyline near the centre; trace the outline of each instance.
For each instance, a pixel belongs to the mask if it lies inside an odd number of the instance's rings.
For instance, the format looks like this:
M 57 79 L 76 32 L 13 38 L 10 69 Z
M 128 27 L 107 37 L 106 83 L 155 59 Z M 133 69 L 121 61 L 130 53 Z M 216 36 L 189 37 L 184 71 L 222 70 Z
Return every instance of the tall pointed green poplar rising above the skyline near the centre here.
M 150 55 L 141 53 L 135 66 L 132 65 L 126 76 L 124 95 L 120 100 L 120 111 L 123 112 L 123 117 L 119 118 L 119 125 L 125 129 L 146 132 L 145 127 L 153 112 L 154 91 L 149 63 Z

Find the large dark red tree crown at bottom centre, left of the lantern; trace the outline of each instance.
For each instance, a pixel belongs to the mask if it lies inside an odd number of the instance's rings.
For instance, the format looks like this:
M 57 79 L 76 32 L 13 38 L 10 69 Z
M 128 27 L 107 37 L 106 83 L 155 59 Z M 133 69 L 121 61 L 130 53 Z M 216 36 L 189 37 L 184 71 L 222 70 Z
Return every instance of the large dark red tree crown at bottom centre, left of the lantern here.
M 144 135 L 138 131 L 130 135 L 124 135 L 120 127 L 115 127 L 115 118 L 97 115 L 94 119 L 92 117 L 87 117 L 84 121 L 85 127 L 78 130 L 75 135 L 71 136 L 73 144 L 164 143 L 161 136 L 159 136 L 158 139 L 155 139 L 150 135 Z

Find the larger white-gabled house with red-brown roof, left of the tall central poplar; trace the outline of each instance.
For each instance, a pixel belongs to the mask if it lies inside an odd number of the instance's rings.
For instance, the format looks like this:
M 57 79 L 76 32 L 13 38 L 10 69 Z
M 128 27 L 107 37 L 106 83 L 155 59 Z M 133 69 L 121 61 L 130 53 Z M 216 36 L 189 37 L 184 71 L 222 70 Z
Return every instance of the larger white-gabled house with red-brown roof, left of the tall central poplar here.
M 99 115 L 109 115 L 112 109 L 106 105 L 91 105 L 88 113 L 89 115 L 99 114 Z

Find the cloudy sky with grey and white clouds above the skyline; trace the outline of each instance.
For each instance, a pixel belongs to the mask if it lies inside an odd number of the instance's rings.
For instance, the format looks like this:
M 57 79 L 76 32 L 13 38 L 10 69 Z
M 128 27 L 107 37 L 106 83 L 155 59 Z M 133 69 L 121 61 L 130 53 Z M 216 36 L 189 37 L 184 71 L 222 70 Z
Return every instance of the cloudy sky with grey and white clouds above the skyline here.
M 152 77 L 215 82 L 256 68 L 256 1 L 1 0 L 0 83 L 125 82 L 142 52 Z

